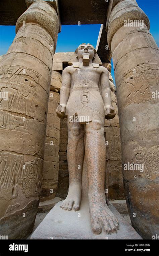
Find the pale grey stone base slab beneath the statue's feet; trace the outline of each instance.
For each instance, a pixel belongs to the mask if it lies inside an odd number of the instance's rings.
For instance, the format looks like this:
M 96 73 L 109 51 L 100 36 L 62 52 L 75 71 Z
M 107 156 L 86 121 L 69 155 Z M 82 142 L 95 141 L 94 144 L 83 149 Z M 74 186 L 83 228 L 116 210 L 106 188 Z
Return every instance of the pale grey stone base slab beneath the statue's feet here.
M 88 198 L 82 198 L 79 211 L 65 211 L 60 208 L 61 202 L 47 214 L 31 239 L 142 239 L 136 230 L 124 220 L 113 205 L 109 208 L 119 220 L 119 230 L 110 235 L 102 231 L 95 235 L 92 232 Z

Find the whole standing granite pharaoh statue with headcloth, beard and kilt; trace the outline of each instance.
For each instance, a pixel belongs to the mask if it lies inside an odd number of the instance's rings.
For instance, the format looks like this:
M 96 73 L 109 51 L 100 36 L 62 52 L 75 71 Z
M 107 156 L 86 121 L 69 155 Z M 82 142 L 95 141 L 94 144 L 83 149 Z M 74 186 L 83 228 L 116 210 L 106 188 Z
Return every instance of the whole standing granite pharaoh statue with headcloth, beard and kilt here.
M 64 210 L 80 210 L 88 198 L 94 234 L 117 232 L 119 222 L 105 200 L 106 146 L 104 118 L 115 116 L 111 105 L 109 72 L 91 44 L 81 44 L 63 71 L 56 114 L 67 117 L 69 189 Z M 108 97 L 106 97 L 108 94 Z M 87 171 L 87 172 L 86 172 Z M 85 206 L 86 207 L 86 206 Z

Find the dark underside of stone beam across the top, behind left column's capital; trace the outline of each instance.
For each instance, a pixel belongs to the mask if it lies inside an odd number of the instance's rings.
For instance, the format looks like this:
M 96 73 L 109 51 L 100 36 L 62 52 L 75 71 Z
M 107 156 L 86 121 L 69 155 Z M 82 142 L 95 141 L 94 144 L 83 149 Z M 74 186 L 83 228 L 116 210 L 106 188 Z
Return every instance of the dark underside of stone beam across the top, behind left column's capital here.
M 34 0 L 26 0 L 27 3 Z M 39 0 L 38 0 L 39 1 Z M 55 0 L 44 0 L 52 5 L 55 9 Z M 59 0 L 59 10 L 62 25 L 81 24 L 105 24 L 108 2 L 105 0 Z M 15 25 L 18 17 L 27 9 L 25 0 L 1 0 L 0 25 Z M 57 13 L 59 15 L 58 9 Z M 60 17 L 59 17 L 60 18 Z

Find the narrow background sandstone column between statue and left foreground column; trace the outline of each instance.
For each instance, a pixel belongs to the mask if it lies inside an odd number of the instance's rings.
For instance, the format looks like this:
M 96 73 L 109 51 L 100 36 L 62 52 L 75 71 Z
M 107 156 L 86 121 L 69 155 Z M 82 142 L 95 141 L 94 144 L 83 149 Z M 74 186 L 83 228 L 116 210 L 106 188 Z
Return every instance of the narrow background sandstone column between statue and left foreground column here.
M 56 115 L 56 108 L 60 104 L 60 89 L 62 75 L 52 71 L 50 97 L 47 115 L 47 129 L 44 154 L 42 194 L 39 212 L 49 211 L 61 200 L 56 197 L 59 169 L 59 144 L 60 144 L 60 118 Z M 53 200 L 54 199 L 54 200 Z

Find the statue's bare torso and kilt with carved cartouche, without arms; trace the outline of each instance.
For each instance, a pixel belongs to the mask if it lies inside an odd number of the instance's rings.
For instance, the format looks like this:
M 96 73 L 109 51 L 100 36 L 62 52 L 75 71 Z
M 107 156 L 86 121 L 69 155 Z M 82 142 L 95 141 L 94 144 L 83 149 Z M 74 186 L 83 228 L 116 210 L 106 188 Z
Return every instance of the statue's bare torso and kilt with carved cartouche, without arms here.
M 104 103 L 98 87 L 102 69 L 94 68 L 92 64 L 79 67 L 70 66 L 69 73 L 71 75 L 71 91 L 66 114 L 68 116 L 89 115 L 90 121 L 94 113 L 98 113 L 104 118 Z

